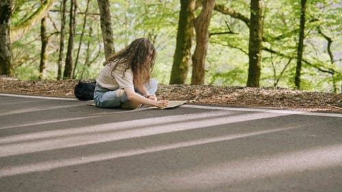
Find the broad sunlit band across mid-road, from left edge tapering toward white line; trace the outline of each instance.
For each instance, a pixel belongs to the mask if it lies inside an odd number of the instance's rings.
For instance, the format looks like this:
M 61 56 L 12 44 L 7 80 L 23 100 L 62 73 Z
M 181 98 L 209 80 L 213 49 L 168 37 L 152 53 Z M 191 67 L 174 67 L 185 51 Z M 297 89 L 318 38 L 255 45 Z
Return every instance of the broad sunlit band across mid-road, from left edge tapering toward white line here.
M 200 113 L 189 116 L 173 115 L 161 118 L 114 122 L 96 126 L 84 126 L 82 128 L 9 136 L 0 139 L 0 143 L 4 143 L 0 146 L 0 156 L 70 148 L 107 141 L 117 141 L 120 139 L 131 139 L 208 126 L 218 126 L 234 122 L 274 118 L 281 115 L 285 114 L 246 113 L 242 115 L 213 115 L 212 113 Z

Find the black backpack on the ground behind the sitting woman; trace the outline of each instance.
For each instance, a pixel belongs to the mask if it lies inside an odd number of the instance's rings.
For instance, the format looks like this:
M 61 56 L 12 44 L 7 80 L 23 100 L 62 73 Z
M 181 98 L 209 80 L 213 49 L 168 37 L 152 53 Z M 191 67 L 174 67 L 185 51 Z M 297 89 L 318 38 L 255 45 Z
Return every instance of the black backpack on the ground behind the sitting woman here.
M 93 100 L 96 81 L 77 83 L 74 94 L 79 100 Z

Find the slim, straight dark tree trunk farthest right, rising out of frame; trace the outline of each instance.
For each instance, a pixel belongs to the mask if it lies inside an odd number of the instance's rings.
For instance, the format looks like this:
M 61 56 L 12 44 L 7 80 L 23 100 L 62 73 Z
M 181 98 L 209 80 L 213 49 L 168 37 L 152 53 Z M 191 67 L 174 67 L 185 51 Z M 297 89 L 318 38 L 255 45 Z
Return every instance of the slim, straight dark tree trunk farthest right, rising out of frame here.
M 297 51 L 297 66 L 295 68 L 295 87 L 300 90 L 300 74 L 302 70 L 302 59 L 303 59 L 303 51 L 304 51 L 304 30 L 305 30 L 305 4 L 306 0 L 300 1 L 301 4 L 301 13 L 300 13 L 300 38 L 298 42 L 298 51 Z

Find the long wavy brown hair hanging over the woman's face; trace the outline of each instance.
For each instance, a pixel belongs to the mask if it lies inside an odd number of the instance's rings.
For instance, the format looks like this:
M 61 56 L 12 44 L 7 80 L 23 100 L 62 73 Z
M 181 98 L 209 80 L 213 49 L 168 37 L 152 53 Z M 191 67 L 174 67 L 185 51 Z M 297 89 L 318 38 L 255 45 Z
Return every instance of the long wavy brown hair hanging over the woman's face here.
M 131 42 L 129 46 L 113 53 L 103 65 L 110 64 L 114 61 L 115 66 L 111 71 L 113 72 L 117 66 L 123 67 L 124 72 L 131 68 L 133 72 L 133 84 L 135 87 L 148 83 L 150 74 L 155 65 L 155 46 L 147 38 L 139 38 Z

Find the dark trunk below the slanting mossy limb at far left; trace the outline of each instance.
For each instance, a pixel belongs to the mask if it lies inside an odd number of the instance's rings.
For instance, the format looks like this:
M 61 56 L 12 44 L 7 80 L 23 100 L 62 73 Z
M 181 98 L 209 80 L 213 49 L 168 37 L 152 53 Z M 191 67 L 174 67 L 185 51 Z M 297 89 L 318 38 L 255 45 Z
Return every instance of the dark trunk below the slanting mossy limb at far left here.
M 49 43 L 49 38 L 47 36 L 46 25 L 46 17 L 43 17 L 40 24 L 40 40 L 42 41 L 42 50 L 40 52 L 39 79 L 44 79 L 44 70 L 47 63 L 47 44 Z

